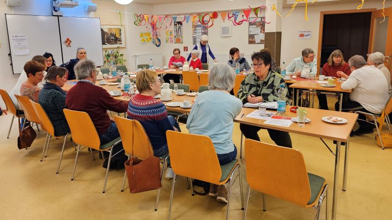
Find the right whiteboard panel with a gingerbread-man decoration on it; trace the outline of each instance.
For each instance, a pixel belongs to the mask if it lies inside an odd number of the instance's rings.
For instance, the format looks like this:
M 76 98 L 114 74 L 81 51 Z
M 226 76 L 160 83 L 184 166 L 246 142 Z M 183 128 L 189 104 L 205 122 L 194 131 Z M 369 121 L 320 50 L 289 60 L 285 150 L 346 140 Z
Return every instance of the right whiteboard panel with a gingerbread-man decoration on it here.
M 76 58 L 76 49 L 83 47 L 87 59 L 103 66 L 102 40 L 99 18 L 59 17 L 63 60 L 67 62 Z M 64 42 L 69 38 L 72 43 L 67 47 Z

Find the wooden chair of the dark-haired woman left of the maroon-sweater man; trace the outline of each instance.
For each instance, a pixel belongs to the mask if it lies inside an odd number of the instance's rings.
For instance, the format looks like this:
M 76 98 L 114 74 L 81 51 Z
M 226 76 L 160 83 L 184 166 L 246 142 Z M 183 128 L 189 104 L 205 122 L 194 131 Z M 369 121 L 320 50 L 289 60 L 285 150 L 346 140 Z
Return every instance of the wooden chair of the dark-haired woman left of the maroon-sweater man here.
M 65 135 L 60 135 L 60 136 L 54 135 L 53 124 L 50 121 L 50 119 L 49 119 L 46 111 L 44 110 L 44 108 L 42 108 L 42 106 L 40 104 L 38 104 L 38 103 L 35 103 L 35 102 L 31 101 L 31 100 L 30 100 L 30 102 L 31 102 L 31 105 L 33 106 L 33 109 L 35 110 L 35 113 L 37 114 L 38 118 L 40 119 L 42 130 L 48 132 L 47 135 L 46 135 L 44 150 L 42 150 L 41 161 L 44 158 L 44 152 L 45 152 L 45 157 L 48 155 L 50 138 L 52 138 L 52 137 L 64 138 L 63 148 L 61 149 L 61 154 L 60 154 L 60 161 L 58 162 L 57 171 L 56 171 L 56 174 L 58 174 L 58 172 L 60 170 L 61 160 L 63 158 L 65 142 L 67 141 L 67 137 L 68 137 L 69 134 L 71 134 L 71 132 L 70 133 L 66 133 Z

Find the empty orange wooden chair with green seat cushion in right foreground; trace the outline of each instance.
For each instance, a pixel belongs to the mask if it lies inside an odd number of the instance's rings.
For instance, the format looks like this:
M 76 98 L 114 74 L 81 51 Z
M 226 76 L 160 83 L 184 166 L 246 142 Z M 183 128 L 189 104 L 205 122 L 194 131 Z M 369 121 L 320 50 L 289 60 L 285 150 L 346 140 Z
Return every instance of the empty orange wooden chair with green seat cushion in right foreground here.
M 317 220 L 320 218 L 320 208 L 325 198 L 326 219 L 328 219 L 328 184 L 323 177 L 306 172 L 305 161 L 299 151 L 246 139 L 245 156 L 248 187 L 244 220 L 250 188 L 263 193 L 264 211 L 266 211 L 264 194 L 268 194 L 305 208 L 315 208 Z

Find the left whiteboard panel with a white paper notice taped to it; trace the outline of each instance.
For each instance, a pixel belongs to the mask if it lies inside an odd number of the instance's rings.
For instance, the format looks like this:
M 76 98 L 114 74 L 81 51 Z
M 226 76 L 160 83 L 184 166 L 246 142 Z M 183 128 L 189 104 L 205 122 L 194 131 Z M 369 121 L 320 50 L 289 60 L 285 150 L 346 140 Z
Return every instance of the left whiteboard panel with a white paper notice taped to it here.
M 37 15 L 5 15 L 8 42 L 10 43 L 12 71 L 21 73 L 25 63 L 35 55 L 45 52 L 53 54 L 56 65 L 62 64 L 60 34 L 57 17 Z M 15 34 L 27 35 L 29 53 L 15 55 L 11 48 L 11 36 Z M 102 54 L 102 52 L 101 52 Z

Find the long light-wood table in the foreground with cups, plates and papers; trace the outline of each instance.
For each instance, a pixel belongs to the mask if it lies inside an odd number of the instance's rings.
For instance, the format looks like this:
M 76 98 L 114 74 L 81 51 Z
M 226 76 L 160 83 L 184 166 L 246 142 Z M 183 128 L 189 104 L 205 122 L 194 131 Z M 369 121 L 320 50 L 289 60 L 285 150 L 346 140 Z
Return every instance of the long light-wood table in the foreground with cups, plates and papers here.
M 96 85 L 106 89 L 108 92 L 113 90 L 120 90 L 116 85 L 99 85 L 99 81 L 96 82 Z M 65 84 L 63 87 L 64 91 L 68 91 L 74 86 L 72 84 Z M 197 96 L 189 96 L 187 93 L 184 95 L 177 95 L 174 92 L 172 93 L 172 100 L 163 101 L 165 103 L 167 110 L 178 111 L 181 113 L 190 113 L 191 108 L 181 108 L 181 107 L 170 107 L 167 104 L 169 102 L 183 102 L 185 98 L 188 98 L 191 102 L 193 102 Z M 113 98 L 121 101 L 128 102 L 130 97 L 123 93 L 120 96 L 113 96 Z M 292 106 L 286 106 L 285 116 L 288 117 L 296 117 L 294 112 L 290 111 Z M 350 132 L 352 131 L 354 124 L 358 118 L 358 114 L 342 112 L 342 111 L 332 111 L 332 110 L 320 110 L 313 108 L 305 108 L 308 111 L 306 115 L 307 118 L 311 119 L 310 123 L 306 123 L 305 127 L 298 127 L 296 123 L 291 124 L 289 127 L 281 127 L 265 124 L 265 120 L 263 119 L 255 119 L 246 117 L 248 114 L 253 112 L 256 109 L 251 108 L 242 108 L 240 114 L 234 119 L 234 122 L 240 124 L 247 124 L 252 126 L 257 126 L 265 129 L 273 129 L 283 132 L 291 132 L 297 133 L 307 136 L 319 137 L 329 140 L 336 141 L 336 151 L 335 151 L 335 173 L 334 173 L 334 188 L 333 188 L 333 202 L 332 202 L 332 219 L 336 219 L 337 212 L 337 203 L 338 203 L 338 182 L 339 182 L 339 167 L 340 167 L 340 152 L 341 152 L 341 143 L 345 143 L 345 155 L 344 155 L 344 170 L 343 170 L 343 191 L 346 190 L 346 182 L 347 182 L 347 169 L 348 169 L 348 150 L 349 150 L 349 137 Z M 340 117 L 347 120 L 345 124 L 332 124 L 327 123 L 321 120 L 324 116 L 334 116 Z

